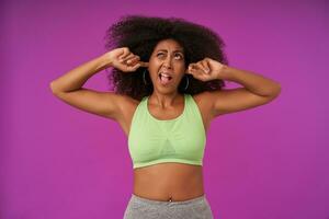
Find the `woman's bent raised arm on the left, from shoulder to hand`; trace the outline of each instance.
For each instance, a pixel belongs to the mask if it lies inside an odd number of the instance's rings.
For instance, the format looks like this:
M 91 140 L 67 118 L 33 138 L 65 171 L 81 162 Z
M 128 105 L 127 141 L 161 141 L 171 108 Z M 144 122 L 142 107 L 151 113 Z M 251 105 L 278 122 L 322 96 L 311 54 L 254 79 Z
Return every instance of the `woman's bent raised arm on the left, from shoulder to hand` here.
M 129 66 L 125 62 L 127 60 L 131 60 Z M 143 65 L 138 60 L 139 57 L 132 54 L 128 48 L 117 48 L 60 76 L 50 82 L 50 89 L 55 96 L 73 107 L 117 120 L 127 96 L 113 92 L 99 92 L 82 85 L 93 74 L 109 67 L 135 71 Z

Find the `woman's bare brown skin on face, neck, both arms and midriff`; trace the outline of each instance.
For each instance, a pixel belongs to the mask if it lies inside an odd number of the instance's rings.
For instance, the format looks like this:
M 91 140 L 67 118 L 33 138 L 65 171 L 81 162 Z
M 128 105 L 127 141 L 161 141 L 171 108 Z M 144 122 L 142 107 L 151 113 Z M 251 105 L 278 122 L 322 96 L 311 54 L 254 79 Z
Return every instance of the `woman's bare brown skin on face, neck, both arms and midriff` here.
M 205 131 L 219 115 L 246 111 L 266 104 L 281 92 L 277 82 L 260 74 L 236 69 L 205 57 L 184 66 L 183 48 L 173 39 L 158 43 L 148 62 L 141 62 L 127 47 L 113 49 L 68 71 L 50 82 L 53 93 L 79 110 L 117 122 L 128 137 L 133 114 L 139 104 L 131 96 L 82 88 L 94 73 L 114 67 L 123 72 L 148 68 L 154 83 L 148 111 L 158 119 L 172 119 L 182 114 L 183 96 L 178 85 L 185 73 L 207 81 L 229 80 L 243 88 L 203 92 L 193 95 L 202 115 Z M 122 58 L 122 59 L 121 59 Z M 206 68 L 209 71 L 206 71 Z M 171 83 L 159 82 L 159 72 L 170 73 Z M 186 200 L 204 194 L 202 166 L 184 163 L 159 163 L 134 170 L 134 194 L 156 200 Z

